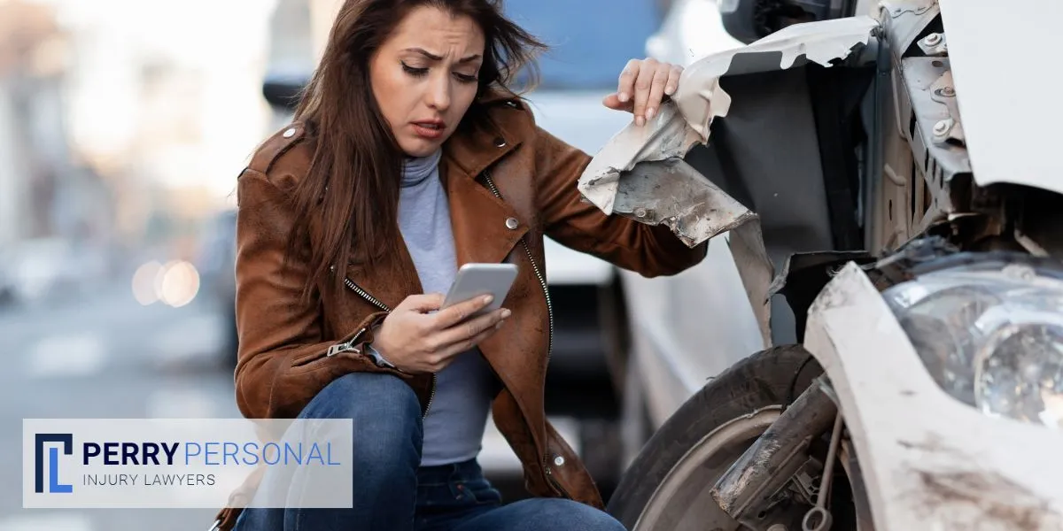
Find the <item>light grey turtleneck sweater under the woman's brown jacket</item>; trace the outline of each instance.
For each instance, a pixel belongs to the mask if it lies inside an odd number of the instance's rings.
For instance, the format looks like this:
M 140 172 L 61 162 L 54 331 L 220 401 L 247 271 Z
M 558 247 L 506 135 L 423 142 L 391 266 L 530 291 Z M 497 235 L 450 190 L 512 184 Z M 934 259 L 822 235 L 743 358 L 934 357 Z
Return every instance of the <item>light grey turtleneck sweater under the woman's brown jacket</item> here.
M 442 152 L 407 158 L 399 196 L 399 227 L 424 293 L 443 293 L 457 273 L 446 192 L 439 181 Z M 382 353 L 387 357 L 387 353 Z M 422 466 L 456 463 L 480 450 L 491 401 L 490 367 L 479 350 L 457 358 L 436 378 L 436 396 L 424 419 Z

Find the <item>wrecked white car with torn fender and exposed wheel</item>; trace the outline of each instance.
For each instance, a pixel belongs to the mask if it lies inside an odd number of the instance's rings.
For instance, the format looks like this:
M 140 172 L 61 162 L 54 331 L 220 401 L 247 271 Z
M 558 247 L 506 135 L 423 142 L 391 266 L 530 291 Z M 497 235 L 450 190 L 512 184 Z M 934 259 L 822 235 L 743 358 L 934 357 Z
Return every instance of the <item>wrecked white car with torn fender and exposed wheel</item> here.
M 723 1 L 758 40 L 579 182 L 742 295 L 626 286 L 628 529 L 1063 529 L 1063 3 L 854 3 Z

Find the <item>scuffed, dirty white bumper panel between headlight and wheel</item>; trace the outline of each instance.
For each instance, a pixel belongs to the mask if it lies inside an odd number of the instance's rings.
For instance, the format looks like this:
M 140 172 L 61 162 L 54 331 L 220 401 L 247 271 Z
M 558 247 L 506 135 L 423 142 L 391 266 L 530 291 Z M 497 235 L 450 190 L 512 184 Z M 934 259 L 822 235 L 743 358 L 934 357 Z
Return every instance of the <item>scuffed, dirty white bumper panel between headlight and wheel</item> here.
M 805 346 L 840 400 L 876 530 L 1063 529 L 1063 431 L 946 394 L 855 263 L 812 305 Z

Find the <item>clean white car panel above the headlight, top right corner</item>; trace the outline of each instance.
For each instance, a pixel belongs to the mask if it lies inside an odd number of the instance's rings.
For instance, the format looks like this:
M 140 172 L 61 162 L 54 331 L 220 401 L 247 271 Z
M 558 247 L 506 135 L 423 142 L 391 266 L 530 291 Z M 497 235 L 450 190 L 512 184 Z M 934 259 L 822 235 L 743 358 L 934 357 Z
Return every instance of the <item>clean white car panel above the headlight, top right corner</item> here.
M 1063 121 L 1063 106 L 1028 89 L 1059 84 L 1050 24 L 1063 19 L 1063 2 L 942 0 L 940 6 L 975 182 L 1063 193 L 1059 139 L 1049 127 Z

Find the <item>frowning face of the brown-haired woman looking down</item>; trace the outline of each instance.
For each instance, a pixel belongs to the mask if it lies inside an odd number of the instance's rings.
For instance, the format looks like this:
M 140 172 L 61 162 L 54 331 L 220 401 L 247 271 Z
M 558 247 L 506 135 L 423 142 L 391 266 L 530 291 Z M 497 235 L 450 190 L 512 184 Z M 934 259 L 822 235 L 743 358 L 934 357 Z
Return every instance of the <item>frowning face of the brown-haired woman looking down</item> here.
M 411 11 L 370 59 L 373 96 L 406 155 L 434 153 L 476 97 L 484 32 L 472 18 Z

